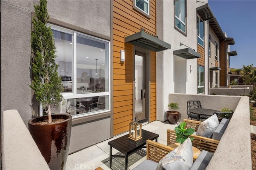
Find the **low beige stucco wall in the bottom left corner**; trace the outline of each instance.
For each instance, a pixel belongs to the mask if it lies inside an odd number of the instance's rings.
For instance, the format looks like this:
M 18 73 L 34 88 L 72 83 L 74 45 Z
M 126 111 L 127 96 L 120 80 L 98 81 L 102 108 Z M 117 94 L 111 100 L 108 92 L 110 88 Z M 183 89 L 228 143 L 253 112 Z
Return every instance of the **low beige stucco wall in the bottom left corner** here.
M 18 111 L 6 110 L 1 117 L 1 169 L 49 170 Z

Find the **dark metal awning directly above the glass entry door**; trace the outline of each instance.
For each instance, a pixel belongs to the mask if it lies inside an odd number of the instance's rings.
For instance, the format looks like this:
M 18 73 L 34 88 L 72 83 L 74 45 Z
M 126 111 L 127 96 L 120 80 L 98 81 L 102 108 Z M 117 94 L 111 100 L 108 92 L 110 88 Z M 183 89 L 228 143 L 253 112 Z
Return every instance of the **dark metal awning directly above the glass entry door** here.
M 138 47 L 142 47 L 148 49 L 150 51 L 163 51 L 171 48 L 169 43 L 166 43 L 153 35 L 145 33 L 143 30 L 129 35 L 124 38 L 126 43 L 130 43 L 132 45 L 136 45 Z

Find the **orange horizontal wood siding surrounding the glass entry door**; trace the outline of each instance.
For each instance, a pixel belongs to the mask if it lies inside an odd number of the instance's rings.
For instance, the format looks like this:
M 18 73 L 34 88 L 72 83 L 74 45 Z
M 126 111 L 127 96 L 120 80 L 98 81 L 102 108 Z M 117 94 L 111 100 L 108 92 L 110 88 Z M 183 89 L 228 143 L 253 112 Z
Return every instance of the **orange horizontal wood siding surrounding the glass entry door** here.
M 113 1 L 113 135 L 129 130 L 133 115 L 133 45 L 124 37 L 144 28 L 156 35 L 156 1 L 150 0 L 150 19 L 133 9 L 133 0 Z M 125 62 L 120 62 L 125 50 Z M 150 121 L 156 120 L 156 53 L 151 52 Z

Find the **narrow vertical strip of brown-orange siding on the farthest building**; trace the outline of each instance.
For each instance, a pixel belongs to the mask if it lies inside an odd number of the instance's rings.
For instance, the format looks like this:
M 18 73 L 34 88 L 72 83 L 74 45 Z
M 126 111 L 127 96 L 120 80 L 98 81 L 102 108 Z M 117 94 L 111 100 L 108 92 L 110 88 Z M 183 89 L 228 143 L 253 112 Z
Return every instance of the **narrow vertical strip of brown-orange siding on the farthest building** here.
M 220 43 L 220 86 L 226 86 L 226 67 L 225 42 Z

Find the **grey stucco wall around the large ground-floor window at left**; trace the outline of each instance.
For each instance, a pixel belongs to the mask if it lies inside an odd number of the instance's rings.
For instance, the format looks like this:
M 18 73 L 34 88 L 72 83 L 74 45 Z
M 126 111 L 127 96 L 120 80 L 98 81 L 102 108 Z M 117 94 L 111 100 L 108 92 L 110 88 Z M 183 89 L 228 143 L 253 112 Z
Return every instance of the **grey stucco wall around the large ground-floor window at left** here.
M 17 109 L 26 126 L 31 117 L 38 115 L 38 104 L 32 100 L 29 87 L 32 14 L 38 2 L 1 0 L 1 113 Z M 48 0 L 47 9 L 49 23 L 110 40 L 110 0 Z M 109 115 L 93 123 L 75 125 L 70 152 L 108 139 L 110 133 Z

